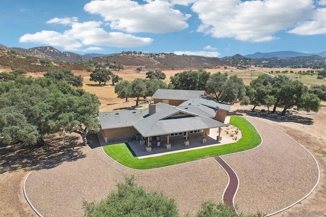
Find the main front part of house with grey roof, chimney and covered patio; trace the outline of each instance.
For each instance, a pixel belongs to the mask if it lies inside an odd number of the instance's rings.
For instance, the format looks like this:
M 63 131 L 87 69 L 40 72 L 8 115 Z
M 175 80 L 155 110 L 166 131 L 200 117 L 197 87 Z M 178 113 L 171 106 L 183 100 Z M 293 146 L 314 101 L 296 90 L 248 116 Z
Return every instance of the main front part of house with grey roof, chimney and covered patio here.
M 174 106 L 158 102 L 142 110 L 101 112 L 98 114 L 101 134 L 106 143 L 140 140 L 147 144 L 158 141 L 171 145 L 170 140 L 191 140 L 192 135 L 197 133 L 205 137 L 211 128 L 227 126 L 214 119 L 218 114 L 214 105 L 211 108 L 200 104 L 201 99 L 195 101 L 198 103 Z

